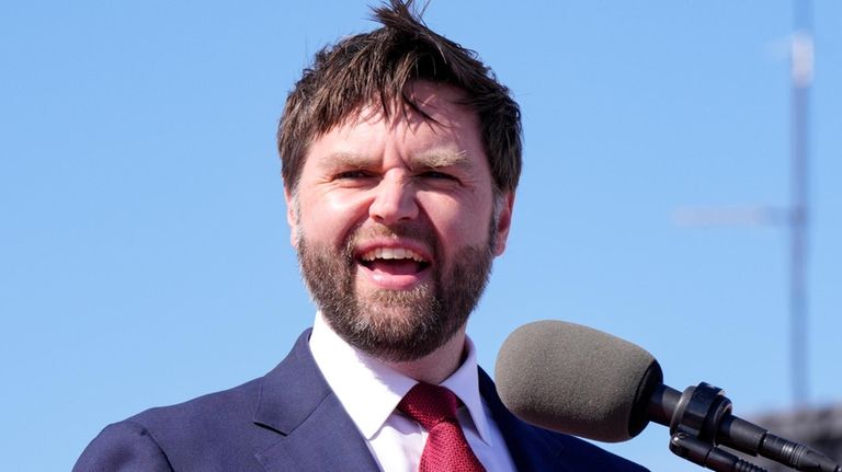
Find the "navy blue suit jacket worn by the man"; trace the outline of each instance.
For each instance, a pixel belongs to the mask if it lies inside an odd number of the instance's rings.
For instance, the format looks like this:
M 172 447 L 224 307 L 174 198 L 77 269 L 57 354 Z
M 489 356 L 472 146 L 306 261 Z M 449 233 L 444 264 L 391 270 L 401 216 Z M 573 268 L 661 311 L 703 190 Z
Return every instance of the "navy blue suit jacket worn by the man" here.
M 75 472 L 377 471 L 364 438 L 310 354 L 309 330 L 266 376 L 107 426 Z M 519 471 L 646 469 L 514 417 L 480 370 L 479 388 Z

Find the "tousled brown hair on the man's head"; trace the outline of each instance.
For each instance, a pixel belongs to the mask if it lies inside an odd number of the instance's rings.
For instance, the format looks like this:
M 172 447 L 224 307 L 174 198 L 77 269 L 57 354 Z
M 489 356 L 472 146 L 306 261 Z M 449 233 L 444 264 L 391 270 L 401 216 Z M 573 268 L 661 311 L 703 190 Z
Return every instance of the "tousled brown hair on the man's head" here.
M 374 16 L 383 27 L 319 50 L 289 92 L 277 130 L 286 188 L 298 186 L 312 140 L 367 103 L 379 101 L 385 116 L 397 100 L 420 112 L 405 88 L 421 79 L 466 93 L 464 104 L 479 117 L 494 186 L 514 191 L 521 174 L 521 113 L 509 89 L 476 53 L 426 27 L 413 0 L 389 0 L 374 9 Z

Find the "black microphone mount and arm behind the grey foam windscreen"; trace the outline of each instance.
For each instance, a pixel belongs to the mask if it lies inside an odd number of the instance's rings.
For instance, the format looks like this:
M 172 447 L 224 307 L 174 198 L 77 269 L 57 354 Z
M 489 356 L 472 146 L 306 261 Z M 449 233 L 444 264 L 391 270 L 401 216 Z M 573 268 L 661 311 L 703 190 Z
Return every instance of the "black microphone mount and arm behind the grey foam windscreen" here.
M 714 471 L 766 472 L 718 447 L 722 445 L 797 471 L 842 472 L 842 467 L 826 456 L 733 416 L 725 391 L 709 383 L 689 387 L 683 393 L 658 385 L 648 414 L 653 422 L 670 427 L 672 452 Z

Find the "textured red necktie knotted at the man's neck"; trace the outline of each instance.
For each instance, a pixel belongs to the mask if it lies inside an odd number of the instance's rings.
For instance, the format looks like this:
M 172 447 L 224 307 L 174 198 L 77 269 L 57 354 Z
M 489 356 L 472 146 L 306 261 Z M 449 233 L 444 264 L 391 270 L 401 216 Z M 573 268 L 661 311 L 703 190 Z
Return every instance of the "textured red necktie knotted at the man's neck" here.
M 485 472 L 456 419 L 456 403 L 444 387 L 421 382 L 398 404 L 428 431 L 419 472 Z

